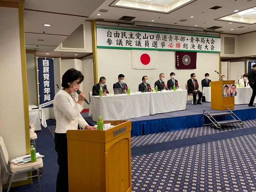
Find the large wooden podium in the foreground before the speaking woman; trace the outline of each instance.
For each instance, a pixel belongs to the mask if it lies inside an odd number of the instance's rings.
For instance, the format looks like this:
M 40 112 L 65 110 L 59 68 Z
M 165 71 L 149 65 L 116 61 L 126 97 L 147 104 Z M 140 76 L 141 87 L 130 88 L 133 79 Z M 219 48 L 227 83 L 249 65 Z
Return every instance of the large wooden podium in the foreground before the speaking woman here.
M 107 130 L 68 130 L 69 192 L 131 192 L 130 121 Z

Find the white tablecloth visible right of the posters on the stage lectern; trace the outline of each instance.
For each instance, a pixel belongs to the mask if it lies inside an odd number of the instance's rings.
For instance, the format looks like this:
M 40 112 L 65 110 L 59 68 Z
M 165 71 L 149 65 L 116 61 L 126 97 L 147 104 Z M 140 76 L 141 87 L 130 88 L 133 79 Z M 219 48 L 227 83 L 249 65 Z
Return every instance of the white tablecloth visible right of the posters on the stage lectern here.
M 237 96 L 235 96 L 235 105 L 249 104 L 252 95 L 251 87 L 237 87 Z M 256 103 L 256 99 L 254 100 Z

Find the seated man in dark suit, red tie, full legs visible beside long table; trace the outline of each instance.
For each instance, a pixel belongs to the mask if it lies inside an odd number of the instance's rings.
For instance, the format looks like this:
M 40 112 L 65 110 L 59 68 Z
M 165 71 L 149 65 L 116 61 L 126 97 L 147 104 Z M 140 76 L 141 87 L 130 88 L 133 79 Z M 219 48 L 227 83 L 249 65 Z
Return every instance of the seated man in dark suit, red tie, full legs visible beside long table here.
M 187 81 L 188 94 L 193 94 L 193 104 L 194 105 L 202 104 L 201 98 L 202 98 L 203 93 L 198 90 L 199 85 L 198 85 L 198 82 L 196 80 L 196 74 L 191 73 L 190 77 L 191 77 L 191 79 L 189 79 Z M 196 95 L 197 94 L 198 94 L 198 100 L 196 101 Z

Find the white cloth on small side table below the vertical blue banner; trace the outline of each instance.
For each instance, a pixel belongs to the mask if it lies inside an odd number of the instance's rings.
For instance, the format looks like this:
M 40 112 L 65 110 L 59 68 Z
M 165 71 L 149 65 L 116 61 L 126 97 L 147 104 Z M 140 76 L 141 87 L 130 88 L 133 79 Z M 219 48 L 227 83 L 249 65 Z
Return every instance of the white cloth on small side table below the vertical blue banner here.
M 36 105 L 28 105 L 30 123 L 34 124 L 34 127 L 36 128 L 36 130 L 41 130 L 41 123 L 44 127 L 47 127 L 47 123 L 46 123 L 46 119 L 44 117 L 42 108 L 32 110 L 32 108 L 36 108 L 36 107 L 37 107 Z

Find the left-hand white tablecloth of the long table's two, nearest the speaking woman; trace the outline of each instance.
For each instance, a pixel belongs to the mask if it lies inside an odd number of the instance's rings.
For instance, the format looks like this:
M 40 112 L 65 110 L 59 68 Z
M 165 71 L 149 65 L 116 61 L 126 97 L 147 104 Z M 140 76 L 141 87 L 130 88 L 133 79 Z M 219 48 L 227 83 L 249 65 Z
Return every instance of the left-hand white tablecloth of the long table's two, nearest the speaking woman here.
M 97 121 L 98 116 L 106 120 L 129 119 L 149 115 L 150 93 L 114 96 L 92 96 L 89 116 Z

